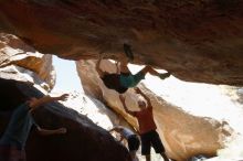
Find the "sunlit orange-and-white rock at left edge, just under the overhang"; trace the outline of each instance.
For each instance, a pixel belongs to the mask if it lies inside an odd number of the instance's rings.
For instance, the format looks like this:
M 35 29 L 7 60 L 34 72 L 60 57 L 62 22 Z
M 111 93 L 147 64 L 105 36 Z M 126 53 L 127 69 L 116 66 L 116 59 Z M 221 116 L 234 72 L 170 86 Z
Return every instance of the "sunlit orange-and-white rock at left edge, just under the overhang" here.
M 17 65 L 38 74 L 52 89 L 55 84 L 55 72 L 52 55 L 43 55 L 25 44 L 19 37 L 0 33 L 0 67 Z

